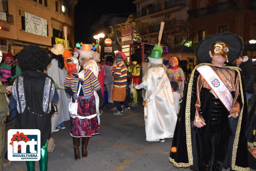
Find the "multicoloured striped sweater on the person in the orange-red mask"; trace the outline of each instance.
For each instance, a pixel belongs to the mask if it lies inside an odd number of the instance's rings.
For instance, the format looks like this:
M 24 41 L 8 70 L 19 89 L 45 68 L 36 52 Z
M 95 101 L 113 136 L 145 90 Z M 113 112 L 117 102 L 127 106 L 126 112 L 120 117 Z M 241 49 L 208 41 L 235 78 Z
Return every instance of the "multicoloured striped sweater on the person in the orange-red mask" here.
M 74 75 L 67 75 L 64 81 L 64 87 L 70 87 L 73 92 L 73 99 L 77 100 L 79 93 L 78 91 L 79 78 Z M 84 69 L 84 83 L 81 87 L 84 91 L 84 97 L 90 97 L 93 95 L 94 91 L 100 90 L 100 84 L 98 78 L 93 74 L 91 70 Z

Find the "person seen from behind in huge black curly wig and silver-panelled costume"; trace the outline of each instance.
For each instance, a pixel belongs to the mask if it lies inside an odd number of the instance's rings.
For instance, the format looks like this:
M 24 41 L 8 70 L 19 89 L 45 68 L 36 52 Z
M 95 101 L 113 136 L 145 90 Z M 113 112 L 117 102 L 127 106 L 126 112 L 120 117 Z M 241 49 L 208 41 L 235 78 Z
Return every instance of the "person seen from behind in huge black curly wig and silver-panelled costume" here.
M 25 46 L 17 56 L 23 72 L 12 86 L 10 110 L 17 108 L 16 129 L 41 132 L 40 171 L 47 171 L 47 144 L 50 137 L 52 104 L 58 102 L 54 81 L 44 70 L 50 64 L 47 52 L 39 46 Z M 45 94 L 44 92 L 49 92 Z M 26 161 L 28 171 L 35 171 L 35 161 Z

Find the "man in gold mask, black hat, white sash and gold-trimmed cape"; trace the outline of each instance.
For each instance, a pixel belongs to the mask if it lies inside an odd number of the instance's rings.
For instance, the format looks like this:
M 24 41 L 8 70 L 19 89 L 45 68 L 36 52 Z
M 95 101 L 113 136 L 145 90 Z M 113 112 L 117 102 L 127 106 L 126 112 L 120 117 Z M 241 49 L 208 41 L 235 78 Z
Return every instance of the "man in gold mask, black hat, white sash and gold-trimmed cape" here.
M 221 171 L 223 167 L 249 171 L 241 70 L 228 63 L 242 49 L 242 39 L 229 32 L 209 35 L 198 43 L 195 55 L 201 64 L 191 73 L 180 107 L 169 157 L 174 166 L 198 171 Z M 202 68 L 213 70 L 217 77 L 207 78 L 199 72 Z M 223 84 L 225 93 L 231 94 L 227 99 L 219 96 Z

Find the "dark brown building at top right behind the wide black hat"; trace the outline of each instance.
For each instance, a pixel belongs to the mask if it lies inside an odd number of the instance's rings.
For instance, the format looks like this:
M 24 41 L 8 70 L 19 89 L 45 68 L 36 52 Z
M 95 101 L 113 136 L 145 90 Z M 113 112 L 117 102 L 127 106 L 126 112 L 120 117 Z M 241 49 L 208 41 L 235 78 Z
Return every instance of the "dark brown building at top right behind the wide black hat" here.
M 256 58 L 256 0 L 190 0 L 189 21 L 194 45 L 207 35 L 232 32 L 244 40 L 244 55 Z

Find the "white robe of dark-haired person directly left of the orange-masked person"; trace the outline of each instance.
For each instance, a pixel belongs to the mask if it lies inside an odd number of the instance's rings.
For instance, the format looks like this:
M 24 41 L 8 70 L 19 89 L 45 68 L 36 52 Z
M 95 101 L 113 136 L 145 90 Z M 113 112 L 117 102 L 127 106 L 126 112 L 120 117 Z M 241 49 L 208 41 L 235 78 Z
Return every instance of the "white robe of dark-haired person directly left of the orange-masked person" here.
M 67 77 L 67 70 L 63 68 L 62 70 L 58 67 L 58 60 L 52 59 L 51 64 L 47 68 L 47 74 L 57 83 L 59 86 L 64 87 L 64 80 Z M 64 121 L 70 120 L 68 105 L 70 98 L 64 90 L 57 90 L 59 95 L 58 101 L 58 113 L 52 115 L 52 131 Z

